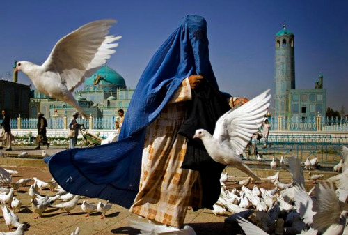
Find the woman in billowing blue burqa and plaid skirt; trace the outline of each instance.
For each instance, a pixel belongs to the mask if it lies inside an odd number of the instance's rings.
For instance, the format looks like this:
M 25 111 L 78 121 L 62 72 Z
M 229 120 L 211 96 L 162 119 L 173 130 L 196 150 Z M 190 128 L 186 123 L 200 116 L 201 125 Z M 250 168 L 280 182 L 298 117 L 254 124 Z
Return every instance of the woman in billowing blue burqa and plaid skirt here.
M 194 158 L 206 153 L 190 137 L 196 128 L 214 131 L 214 121 L 229 109 L 220 94 L 209 61 L 206 21 L 187 15 L 141 75 L 118 142 L 56 153 L 45 160 L 49 171 L 68 192 L 107 199 L 149 220 L 180 227 L 188 206 L 212 208 L 219 198 L 225 166 L 209 156 L 197 165 L 200 160 Z M 216 110 L 219 103 L 223 107 Z M 205 116 L 213 121 L 202 123 Z

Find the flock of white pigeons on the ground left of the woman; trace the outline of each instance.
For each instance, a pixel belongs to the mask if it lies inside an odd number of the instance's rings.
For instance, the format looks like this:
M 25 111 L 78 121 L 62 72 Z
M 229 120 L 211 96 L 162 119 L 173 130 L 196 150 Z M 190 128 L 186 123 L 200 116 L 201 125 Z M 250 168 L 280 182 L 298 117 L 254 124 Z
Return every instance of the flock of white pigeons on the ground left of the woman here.
M 12 176 L 13 174 L 18 174 L 18 172 L 0 167 L 0 183 L 3 186 L 6 186 L 0 187 L 0 207 L 3 214 L 3 219 L 5 220 L 8 229 L 15 229 L 15 231 L 12 232 L 0 232 L 0 235 L 22 235 L 26 230 L 28 230 L 28 226 L 26 226 L 25 223 L 19 222 L 21 210 L 25 207 L 31 208 L 31 211 L 35 214 L 35 219 L 42 218 L 42 214 L 45 213 L 45 211 L 49 208 L 61 209 L 70 215 L 70 212 L 77 207 L 79 199 L 81 199 L 81 196 L 72 195 L 71 193 L 63 190 L 63 188 L 61 188 L 61 186 L 58 185 L 54 179 L 51 179 L 50 181 L 42 181 L 37 177 L 33 177 L 19 179 L 17 182 L 14 182 Z M 30 186 L 28 184 L 30 184 Z M 24 205 L 21 200 L 15 196 L 16 193 L 19 193 L 19 188 L 21 187 L 29 187 L 26 194 L 31 198 L 30 205 Z M 54 194 L 52 196 L 41 195 L 40 190 L 42 191 L 46 189 L 51 190 L 54 192 Z M 106 213 L 111 209 L 112 206 L 113 204 L 109 203 L 108 201 L 100 201 L 97 204 L 93 204 L 88 202 L 86 198 L 81 204 L 81 211 L 86 213 L 86 217 L 88 217 L 90 213 L 101 213 L 100 218 L 104 219 L 106 217 Z M 77 227 L 76 230 L 71 234 L 79 234 L 79 227 Z

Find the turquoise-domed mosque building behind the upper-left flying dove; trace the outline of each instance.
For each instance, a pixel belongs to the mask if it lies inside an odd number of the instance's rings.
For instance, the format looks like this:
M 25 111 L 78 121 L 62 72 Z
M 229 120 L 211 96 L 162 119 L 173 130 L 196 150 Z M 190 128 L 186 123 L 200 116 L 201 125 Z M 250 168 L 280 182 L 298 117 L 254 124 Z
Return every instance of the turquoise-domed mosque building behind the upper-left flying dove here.
M 79 105 L 93 118 L 118 116 L 118 109 L 125 112 L 134 89 L 127 89 L 125 79 L 106 63 L 91 77 L 85 77 L 84 88 L 74 92 Z M 45 116 L 72 116 L 76 109 L 60 100 L 52 99 L 37 90 L 31 90 L 30 117 L 38 112 Z

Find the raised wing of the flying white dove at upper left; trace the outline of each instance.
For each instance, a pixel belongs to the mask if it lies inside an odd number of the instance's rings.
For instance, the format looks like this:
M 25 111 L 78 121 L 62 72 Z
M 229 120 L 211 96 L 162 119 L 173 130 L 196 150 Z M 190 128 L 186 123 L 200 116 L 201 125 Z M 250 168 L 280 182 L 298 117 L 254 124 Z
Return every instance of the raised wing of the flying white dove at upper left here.
M 58 72 L 60 83 L 69 91 L 84 82 L 115 52 L 113 41 L 120 37 L 107 36 L 109 28 L 116 20 L 97 20 L 81 26 L 64 36 L 54 46 L 51 54 L 43 63 L 46 70 Z

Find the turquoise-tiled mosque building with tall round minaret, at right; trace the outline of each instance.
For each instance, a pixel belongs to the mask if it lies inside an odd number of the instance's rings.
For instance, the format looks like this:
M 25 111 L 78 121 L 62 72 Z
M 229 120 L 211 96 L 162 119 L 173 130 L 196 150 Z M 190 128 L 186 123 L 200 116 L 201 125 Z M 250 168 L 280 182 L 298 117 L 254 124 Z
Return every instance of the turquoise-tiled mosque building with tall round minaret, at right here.
M 306 121 L 317 115 L 325 116 L 326 91 L 323 88 L 323 75 L 313 89 L 296 89 L 294 33 L 286 29 L 278 31 L 275 36 L 274 56 L 274 117 Z

